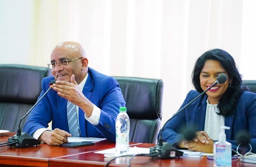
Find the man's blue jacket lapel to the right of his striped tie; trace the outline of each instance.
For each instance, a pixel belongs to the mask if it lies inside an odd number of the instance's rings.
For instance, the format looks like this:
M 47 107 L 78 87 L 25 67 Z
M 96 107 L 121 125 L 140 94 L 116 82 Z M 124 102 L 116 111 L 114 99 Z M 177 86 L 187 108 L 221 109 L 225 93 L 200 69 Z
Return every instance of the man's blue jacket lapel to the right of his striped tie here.
M 90 72 L 88 71 L 88 78 L 85 82 L 85 85 L 83 87 L 82 93 L 85 95 L 85 97 L 90 100 L 91 95 L 92 95 L 92 89 L 94 86 L 94 80 L 90 74 Z M 81 137 L 86 137 L 86 131 L 85 131 L 85 118 L 84 118 L 84 112 L 81 108 L 79 108 L 79 127 L 80 127 L 80 132 L 81 132 Z

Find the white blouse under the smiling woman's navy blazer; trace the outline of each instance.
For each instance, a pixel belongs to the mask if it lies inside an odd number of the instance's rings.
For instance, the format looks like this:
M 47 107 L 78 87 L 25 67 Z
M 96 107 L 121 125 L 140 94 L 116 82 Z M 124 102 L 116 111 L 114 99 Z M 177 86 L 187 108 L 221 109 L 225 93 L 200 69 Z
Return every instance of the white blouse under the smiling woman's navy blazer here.
M 220 126 L 225 125 L 225 117 L 218 115 L 219 109 L 218 104 L 210 104 L 208 99 L 206 100 L 206 115 L 204 123 L 204 131 L 209 135 L 213 140 L 219 140 Z

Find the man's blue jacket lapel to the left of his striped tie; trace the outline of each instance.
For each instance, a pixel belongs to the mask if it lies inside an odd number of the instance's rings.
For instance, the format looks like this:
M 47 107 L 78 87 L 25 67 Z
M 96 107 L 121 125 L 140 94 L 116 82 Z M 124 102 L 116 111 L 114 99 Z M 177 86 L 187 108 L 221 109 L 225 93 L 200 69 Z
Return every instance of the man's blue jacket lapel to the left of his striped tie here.
M 64 131 L 67 131 L 69 133 L 68 118 L 67 118 L 67 99 L 59 96 L 58 94 L 56 94 L 56 96 L 57 96 L 57 104 L 60 112 L 61 122 L 64 127 Z

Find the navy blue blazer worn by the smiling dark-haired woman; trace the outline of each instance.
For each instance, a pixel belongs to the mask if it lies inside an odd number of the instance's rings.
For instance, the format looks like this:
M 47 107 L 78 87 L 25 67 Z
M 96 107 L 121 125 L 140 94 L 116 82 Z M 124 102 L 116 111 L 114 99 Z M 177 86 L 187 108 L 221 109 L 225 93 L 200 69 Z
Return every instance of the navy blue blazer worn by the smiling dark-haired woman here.
M 183 102 L 182 108 L 199 93 L 191 90 Z M 207 95 L 203 95 L 191 103 L 185 110 L 177 114 L 173 119 L 166 123 L 163 129 L 163 140 L 170 144 L 175 144 L 182 140 L 179 134 L 181 125 L 196 125 L 198 131 L 204 130 L 204 122 L 206 115 Z M 235 134 L 241 129 L 247 129 L 251 133 L 252 152 L 256 153 L 256 94 L 244 91 L 239 97 L 236 109 L 232 115 L 225 117 L 225 126 L 229 126 L 230 130 L 225 130 L 226 139 L 232 144 L 232 148 L 236 150 L 237 144 Z M 249 150 L 248 150 L 249 151 Z

